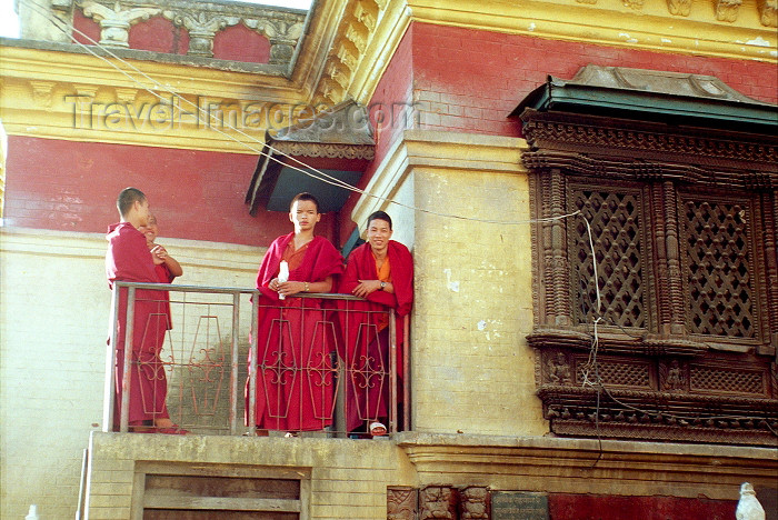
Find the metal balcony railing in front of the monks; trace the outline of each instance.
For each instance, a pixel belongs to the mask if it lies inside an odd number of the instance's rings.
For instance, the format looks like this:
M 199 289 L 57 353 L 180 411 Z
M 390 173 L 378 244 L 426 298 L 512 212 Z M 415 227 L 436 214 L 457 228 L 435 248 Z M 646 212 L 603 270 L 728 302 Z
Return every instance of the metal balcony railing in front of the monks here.
M 253 434 L 247 418 L 258 408 L 271 431 L 346 437 L 376 419 L 388 421 L 390 434 L 409 429 L 409 358 L 407 349 L 398 354 L 392 311 L 366 309 L 349 294 L 306 293 L 286 304 L 259 297 L 252 289 L 116 282 L 103 431 L 130 431 L 131 410 L 161 407 L 202 434 Z M 118 352 L 118 344 L 134 347 Z

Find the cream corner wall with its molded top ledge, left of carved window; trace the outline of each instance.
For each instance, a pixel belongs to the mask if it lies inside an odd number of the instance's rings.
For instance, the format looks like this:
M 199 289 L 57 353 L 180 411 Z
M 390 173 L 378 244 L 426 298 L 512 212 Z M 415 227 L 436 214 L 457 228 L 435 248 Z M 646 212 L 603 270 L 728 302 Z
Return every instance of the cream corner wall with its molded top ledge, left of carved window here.
M 408 130 L 366 191 L 417 209 L 363 197 L 351 214 L 362 222 L 389 211 L 396 238 L 412 240 L 416 431 L 548 432 L 525 340 L 532 329 L 525 147 L 521 139 Z

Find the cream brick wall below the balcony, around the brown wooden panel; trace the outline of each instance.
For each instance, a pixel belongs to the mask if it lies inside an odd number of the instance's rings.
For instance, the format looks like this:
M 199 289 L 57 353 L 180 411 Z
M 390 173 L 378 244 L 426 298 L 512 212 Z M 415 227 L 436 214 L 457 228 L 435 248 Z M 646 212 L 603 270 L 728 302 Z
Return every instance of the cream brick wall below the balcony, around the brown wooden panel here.
M 152 439 L 148 439 L 152 437 Z M 141 518 L 132 509 L 137 460 L 183 462 L 196 467 L 251 464 L 273 471 L 297 470 L 307 480 L 309 502 L 301 519 L 383 520 L 387 486 L 416 486 L 402 449 L 390 441 L 257 437 L 179 437 L 96 433 L 92 437 L 89 519 Z M 308 476 L 306 478 L 306 476 Z

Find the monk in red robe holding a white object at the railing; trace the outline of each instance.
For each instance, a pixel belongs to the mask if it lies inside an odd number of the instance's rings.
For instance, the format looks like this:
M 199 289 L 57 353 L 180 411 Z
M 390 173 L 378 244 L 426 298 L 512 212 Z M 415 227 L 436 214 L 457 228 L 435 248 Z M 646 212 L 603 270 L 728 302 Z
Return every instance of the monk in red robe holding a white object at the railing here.
M 257 274 L 261 294 L 253 424 L 258 434 L 268 429 L 293 434 L 332 423 L 335 328 L 321 300 L 295 298 L 300 292 L 330 292 L 343 271 L 338 250 L 313 236 L 320 219 L 313 196 L 296 196 L 289 212 L 295 232 L 270 244 Z M 248 414 L 248 386 L 246 396 Z

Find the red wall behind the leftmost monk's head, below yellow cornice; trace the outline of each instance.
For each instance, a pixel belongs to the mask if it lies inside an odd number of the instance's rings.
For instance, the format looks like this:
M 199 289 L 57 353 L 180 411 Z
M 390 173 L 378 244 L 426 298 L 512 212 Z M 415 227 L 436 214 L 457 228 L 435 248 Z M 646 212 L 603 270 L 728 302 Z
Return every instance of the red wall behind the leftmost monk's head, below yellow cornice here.
M 292 230 L 287 213 L 243 203 L 256 156 L 9 137 L 7 226 L 104 232 L 116 197 L 142 190 L 162 237 L 268 246 Z M 331 237 L 325 216 L 318 234 Z

